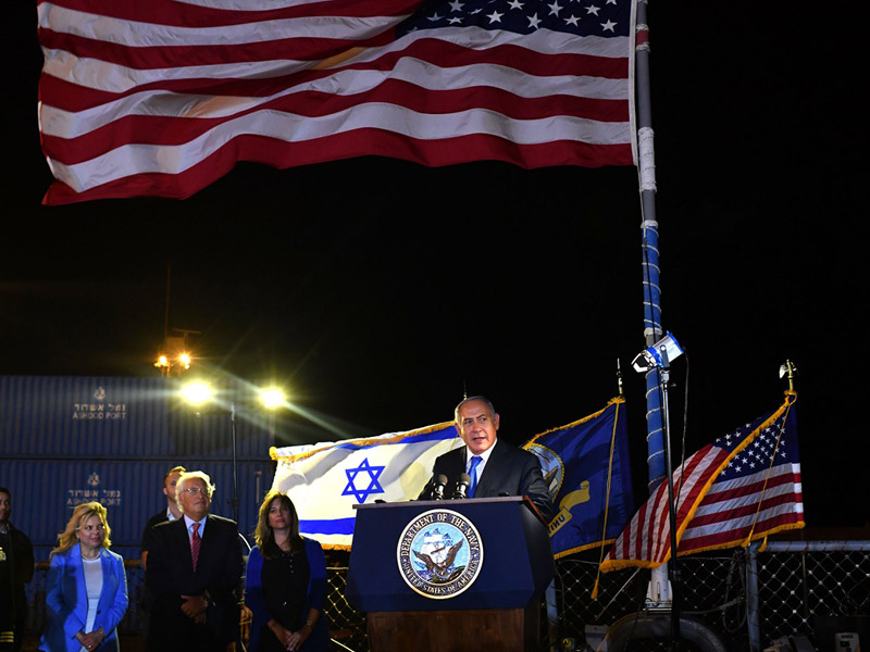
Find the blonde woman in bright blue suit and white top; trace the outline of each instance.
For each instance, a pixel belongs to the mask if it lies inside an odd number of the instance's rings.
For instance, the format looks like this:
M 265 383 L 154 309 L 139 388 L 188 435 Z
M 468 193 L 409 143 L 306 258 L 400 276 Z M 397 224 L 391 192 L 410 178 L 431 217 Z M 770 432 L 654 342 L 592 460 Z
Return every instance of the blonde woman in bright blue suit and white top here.
M 46 587 L 45 652 L 116 652 L 115 628 L 127 611 L 127 576 L 121 555 L 109 551 L 105 507 L 84 503 L 73 511 L 51 551 Z

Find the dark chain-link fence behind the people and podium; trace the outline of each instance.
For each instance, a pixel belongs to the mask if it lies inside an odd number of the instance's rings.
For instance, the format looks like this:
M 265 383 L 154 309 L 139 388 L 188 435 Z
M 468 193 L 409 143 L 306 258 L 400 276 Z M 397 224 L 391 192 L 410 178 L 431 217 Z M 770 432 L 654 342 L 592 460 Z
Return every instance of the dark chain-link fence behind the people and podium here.
M 593 551 L 557 562 L 555 605 L 542 609 L 542 651 L 583 650 L 587 626 L 611 626 L 644 613 L 649 572 L 599 575 L 598 554 Z M 327 553 L 327 557 L 332 563 L 324 612 L 334 648 L 368 652 L 365 615 L 345 599 L 347 555 Z M 818 652 L 833 652 L 836 631 L 862 632 L 862 642 L 870 645 L 870 640 L 863 640 L 870 639 L 870 541 L 771 542 L 763 551 L 754 546 L 680 557 L 676 567 L 681 615 L 713 631 L 729 652 L 760 652 L 772 641 L 795 636 L 806 637 Z M 596 578 L 598 595 L 593 600 Z M 45 584 L 46 565 L 40 564 L 28 586 L 32 634 L 45 626 Z M 147 627 L 137 562 L 127 564 L 127 584 L 130 606 L 119 629 L 130 636 Z M 555 614 L 549 626 L 548 611 Z M 669 647 L 667 636 L 638 636 L 623 650 Z

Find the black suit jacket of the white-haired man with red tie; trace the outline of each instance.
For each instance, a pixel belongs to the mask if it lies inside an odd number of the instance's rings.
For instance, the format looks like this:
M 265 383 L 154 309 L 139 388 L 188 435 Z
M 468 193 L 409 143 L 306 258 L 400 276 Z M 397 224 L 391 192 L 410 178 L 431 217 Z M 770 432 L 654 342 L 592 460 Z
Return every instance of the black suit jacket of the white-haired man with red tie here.
M 196 573 L 184 518 L 156 525 L 151 530 L 145 574 L 153 599 L 148 649 L 222 652 L 228 642 L 238 638 L 236 591 L 241 570 L 235 522 L 208 515 Z M 197 625 L 182 612 L 182 595 L 206 592 L 209 598 L 207 620 Z

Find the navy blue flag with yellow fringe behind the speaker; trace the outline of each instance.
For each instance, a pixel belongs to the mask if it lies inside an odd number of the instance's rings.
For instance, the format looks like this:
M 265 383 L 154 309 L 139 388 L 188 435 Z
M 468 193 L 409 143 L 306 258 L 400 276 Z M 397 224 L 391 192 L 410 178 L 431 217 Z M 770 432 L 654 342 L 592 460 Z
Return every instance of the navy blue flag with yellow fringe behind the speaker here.
M 556 559 L 610 543 L 634 513 L 625 400 L 534 437 L 558 513 L 549 524 Z

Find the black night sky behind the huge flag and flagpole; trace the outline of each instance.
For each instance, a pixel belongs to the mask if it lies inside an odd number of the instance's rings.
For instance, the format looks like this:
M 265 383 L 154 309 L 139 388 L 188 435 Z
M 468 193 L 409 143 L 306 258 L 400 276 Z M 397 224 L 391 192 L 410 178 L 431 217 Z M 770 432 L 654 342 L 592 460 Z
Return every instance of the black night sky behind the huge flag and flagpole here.
M 348 436 L 447 421 L 468 391 L 519 444 L 602 408 L 619 359 L 644 494 L 634 168 L 239 164 L 185 201 L 47 209 L 26 9 L 5 88 L 0 373 L 156 374 L 169 273 L 169 325 L 201 333 L 199 368 L 275 377 Z M 688 353 L 672 437 L 686 415 L 691 454 L 774 410 L 790 359 L 807 523 L 861 525 L 860 41 L 778 9 L 649 10 L 662 321 Z M 282 431 L 334 438 L 299 418 Z

